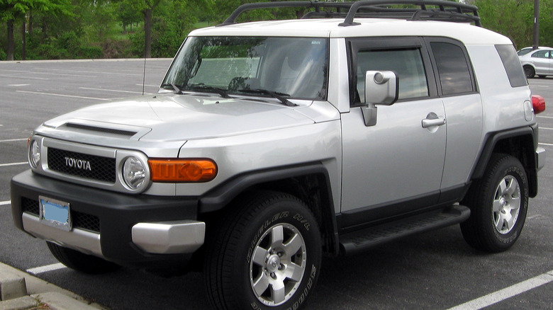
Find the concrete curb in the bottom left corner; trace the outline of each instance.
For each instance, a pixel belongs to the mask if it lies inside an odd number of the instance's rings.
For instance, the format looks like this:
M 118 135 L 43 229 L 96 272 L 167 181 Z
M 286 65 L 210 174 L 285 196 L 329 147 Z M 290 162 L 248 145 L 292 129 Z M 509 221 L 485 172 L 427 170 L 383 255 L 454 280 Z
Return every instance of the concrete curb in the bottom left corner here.
M 0 310 L 108 310 L 67 289 L 0 263 Z

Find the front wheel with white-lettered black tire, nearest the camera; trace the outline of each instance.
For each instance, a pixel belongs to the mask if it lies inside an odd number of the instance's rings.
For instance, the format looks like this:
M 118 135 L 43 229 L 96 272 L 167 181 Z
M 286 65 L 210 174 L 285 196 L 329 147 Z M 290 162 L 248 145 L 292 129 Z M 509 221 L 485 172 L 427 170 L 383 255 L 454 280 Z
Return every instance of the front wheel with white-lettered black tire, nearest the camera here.
M 264 191 L 243 195 L 228 211 L 206 243 L 203 272 L 211 306 L 303 306 L 321 259 L 320 231 L 308 207 L 294 196 Z

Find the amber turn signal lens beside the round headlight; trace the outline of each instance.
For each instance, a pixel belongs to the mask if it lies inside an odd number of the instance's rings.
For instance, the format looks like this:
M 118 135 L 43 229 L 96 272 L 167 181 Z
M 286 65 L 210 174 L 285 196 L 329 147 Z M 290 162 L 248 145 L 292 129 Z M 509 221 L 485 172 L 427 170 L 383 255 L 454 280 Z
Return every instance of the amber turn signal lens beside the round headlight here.
M 217 165 L 211 159 L 149 159 L 154 182 L 207 182 L 217 176 Z

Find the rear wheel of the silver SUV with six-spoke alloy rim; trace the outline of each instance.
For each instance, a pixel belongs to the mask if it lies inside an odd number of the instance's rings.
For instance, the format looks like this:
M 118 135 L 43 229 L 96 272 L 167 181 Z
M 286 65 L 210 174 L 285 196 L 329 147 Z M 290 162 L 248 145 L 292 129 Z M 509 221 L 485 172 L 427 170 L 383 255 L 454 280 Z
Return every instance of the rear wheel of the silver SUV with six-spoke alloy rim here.
M 520 236 L 528 209 L 528 180 L 520 161 L 494 154 L 484 176 L 474 181 L 462 204 L 471 216 L 461 223 L 464 239 L 482 251 L 505 251 Z

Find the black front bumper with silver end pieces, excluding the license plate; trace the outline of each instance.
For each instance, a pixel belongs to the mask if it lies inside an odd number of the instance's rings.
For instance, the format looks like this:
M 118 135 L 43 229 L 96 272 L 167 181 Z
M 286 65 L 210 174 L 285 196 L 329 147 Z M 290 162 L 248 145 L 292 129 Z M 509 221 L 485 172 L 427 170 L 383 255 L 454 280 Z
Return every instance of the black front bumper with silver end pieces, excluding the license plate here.
M 40 222 L 39 195 L 69 203 L 71 231 Z M 28 234 L 121 265 L 184 260 L 205 235 L 196 197 L 113 193 L 31 171 L 12 178 L 11 209 L 14 224 Z

